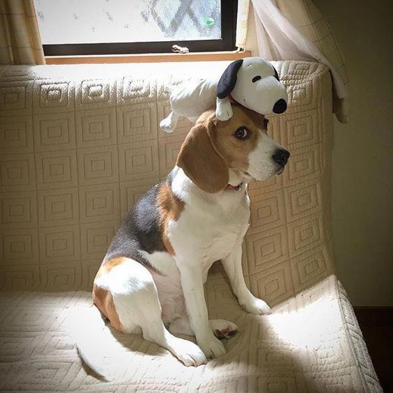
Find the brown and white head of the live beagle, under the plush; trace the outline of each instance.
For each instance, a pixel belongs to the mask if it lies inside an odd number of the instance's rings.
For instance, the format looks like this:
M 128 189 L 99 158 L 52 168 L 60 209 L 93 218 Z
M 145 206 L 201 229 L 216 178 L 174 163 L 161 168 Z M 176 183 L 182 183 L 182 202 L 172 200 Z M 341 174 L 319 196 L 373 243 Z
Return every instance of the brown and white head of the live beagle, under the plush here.
M 229 183 L 229 169 L 244 180 L 265 180 L 281 174 L 289 153 L 268 137 L 263 115 L 233 105 L 229 121 L 203 113 L 180 148 L 177 165 L 206 192 L 219 192 Z

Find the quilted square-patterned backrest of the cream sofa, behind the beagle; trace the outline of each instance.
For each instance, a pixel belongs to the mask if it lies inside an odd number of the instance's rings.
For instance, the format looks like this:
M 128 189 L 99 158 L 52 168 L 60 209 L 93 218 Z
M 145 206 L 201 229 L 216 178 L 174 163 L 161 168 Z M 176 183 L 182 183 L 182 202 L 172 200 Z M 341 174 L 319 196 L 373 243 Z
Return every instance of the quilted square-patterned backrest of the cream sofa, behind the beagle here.
M 0 288 L 91 288 L 121 218 L 167 176 L 192 126 L 180 118 L 174 134 L 160 130 L 171 90 L 226 65 L 0 68 Z M 268 132 L 291 160 L 249 185 L 242 255 L 247 284 L 270 305 L 333 270 L 330 74 L 305 61 L 275 66 L 289 107 Z

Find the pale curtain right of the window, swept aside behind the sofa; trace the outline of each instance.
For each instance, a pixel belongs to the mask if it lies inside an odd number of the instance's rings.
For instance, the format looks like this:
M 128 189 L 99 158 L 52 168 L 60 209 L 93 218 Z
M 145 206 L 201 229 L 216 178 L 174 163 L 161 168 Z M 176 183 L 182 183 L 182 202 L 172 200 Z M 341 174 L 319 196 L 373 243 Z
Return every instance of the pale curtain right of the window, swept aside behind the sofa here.
M 238 20 L 244 20 L 250 0 L 239 0 Z M 259 55 L 269 60 L 319 61 L 330 68 L 333 111 L 348 121 L 348 76 L 332 31 L 311 0 L 252 0 Z M 241 16 L 240 16 L 241 15 Z M 236 44 L 247 49 L 247 23 L 238 25 Z M 239 40 L 238 40 L 239 36 Z

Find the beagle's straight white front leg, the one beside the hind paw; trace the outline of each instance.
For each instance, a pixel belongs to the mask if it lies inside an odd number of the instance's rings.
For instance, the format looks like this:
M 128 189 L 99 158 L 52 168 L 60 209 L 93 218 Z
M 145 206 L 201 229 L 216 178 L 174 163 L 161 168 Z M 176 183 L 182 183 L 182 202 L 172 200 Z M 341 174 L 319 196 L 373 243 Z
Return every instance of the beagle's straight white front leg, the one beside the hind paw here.
M 203 293 L 202 268 L 199 263 L 189 265 L 178 261 L 180 282 L 183 288 L 190 325 L 195 334 L 196 342 L 206 357 L 223 355 L 226 350 L 210 329 L 208 308 Z

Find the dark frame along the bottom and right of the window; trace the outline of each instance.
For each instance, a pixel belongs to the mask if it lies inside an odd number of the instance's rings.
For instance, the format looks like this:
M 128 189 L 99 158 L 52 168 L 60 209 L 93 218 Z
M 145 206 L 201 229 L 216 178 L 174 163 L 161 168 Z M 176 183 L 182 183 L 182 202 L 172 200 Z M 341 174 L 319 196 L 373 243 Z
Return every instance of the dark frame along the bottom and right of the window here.
M 226 52 L 236 49 L 237 0 L 221 0 L 221 32 L 218 40 L 156 41 L 139 43 L 86 43 L 43 45 L 45 56 L 86 56 L 116 54 L 169 54 L 172 45 L 187 47 L 190 52 Z

